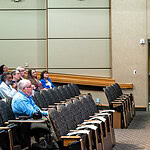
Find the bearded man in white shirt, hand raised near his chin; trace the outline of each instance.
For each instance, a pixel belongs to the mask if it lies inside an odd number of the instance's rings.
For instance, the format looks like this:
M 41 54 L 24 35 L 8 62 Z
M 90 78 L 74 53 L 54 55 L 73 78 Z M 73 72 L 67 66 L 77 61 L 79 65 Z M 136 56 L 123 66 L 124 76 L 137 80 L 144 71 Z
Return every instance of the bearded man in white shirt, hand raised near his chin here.
M 2 83 L 0 85 L 0 97 L 1 98 L 7 98 L 7 97 L 13 97 L 17 91 L 16 91 L 16 84 L 11 86 L 10 82 L 12 80 L 12 77 L 9 72 L 4 72 L 1 77 Z

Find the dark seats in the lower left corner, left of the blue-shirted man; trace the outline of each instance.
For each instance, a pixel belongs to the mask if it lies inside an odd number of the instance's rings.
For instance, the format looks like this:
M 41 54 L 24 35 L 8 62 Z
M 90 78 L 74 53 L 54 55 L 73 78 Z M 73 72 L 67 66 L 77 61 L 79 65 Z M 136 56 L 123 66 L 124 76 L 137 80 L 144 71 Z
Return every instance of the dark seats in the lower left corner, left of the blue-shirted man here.
M 21 150 L 27 145 L 30 145 L 28 140 L 28 125 L 21 123 L 8 123 L 9 120 L 14 120 L 14 114 L 9 104 L 0 101 L 0 148 L 2 150 Z M 26 130 L 27 129 L 27 130 Z M 26 132 L 22 135 L 22 131 Z

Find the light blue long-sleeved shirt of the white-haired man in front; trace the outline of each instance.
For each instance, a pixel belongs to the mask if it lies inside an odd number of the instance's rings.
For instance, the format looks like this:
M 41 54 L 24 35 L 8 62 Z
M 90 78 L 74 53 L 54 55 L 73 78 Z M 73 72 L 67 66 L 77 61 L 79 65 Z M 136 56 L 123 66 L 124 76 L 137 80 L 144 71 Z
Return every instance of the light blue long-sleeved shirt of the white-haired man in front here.
M 36 111 L 40 111 L 42 115 L 47 116 L 47 111 L 42 111 L 33 101 L 32 96 L 26 96 L 23 92 L 19 91 L 12 99 L 12 110 L 15 117 L 19 116 L 32 116 Z

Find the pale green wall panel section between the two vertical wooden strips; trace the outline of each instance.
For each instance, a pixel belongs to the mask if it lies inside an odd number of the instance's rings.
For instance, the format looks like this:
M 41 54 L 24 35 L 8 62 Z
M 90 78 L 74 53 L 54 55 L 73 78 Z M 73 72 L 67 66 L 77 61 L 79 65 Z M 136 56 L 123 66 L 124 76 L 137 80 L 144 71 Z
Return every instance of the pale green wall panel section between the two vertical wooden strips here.
M 48 67 L 111 77 L 109 0 L 48 0 Z

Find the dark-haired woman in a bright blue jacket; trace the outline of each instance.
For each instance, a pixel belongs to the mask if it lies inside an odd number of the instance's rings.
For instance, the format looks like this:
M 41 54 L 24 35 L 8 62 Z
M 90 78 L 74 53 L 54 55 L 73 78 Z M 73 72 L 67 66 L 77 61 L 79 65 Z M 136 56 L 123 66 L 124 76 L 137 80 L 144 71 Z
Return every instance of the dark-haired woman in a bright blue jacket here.
M 50 80 L 50 78 L 48 77 L 48 72 L 47 71 L 43 71 L 41 73 L 41 79 L 40 79 L 43 88 L 54 88 L 55 86 L 53 85 L 52 81 Z

